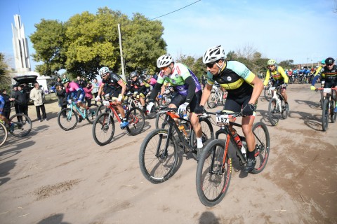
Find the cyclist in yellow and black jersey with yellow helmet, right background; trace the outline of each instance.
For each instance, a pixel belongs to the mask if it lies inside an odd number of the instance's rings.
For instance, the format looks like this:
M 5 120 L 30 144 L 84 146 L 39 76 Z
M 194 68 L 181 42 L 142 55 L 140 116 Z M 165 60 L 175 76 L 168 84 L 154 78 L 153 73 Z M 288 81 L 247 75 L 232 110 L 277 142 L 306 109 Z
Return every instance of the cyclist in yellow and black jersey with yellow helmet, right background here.
M 286 110 L 289 111 L 288 96 L 286 95 L 286 85 L 288 85 L 289 78 L 284 72 L 282 66 L 277 65 L 275 59 L 270 59 L 267 62 L 267 66 L 268 70 L 265 73 L 265 81 L 263 82 L 263 85 L 268 85 L 269 78 L 271 78 L 270 80 L 272 81 L 273 87 L 281 85 L 281 94 L 285 100 L 284 103 L 286 104 Z

